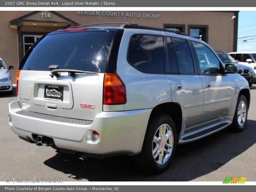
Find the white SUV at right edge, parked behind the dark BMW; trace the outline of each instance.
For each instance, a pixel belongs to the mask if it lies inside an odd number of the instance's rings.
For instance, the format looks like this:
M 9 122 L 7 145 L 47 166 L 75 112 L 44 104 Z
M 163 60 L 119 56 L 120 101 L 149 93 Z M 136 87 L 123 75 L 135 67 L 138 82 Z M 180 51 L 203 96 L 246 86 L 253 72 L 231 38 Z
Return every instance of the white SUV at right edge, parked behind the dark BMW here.
M 256 52 L 231 52 L 228 54 L 239 61 L 239 64 L 253 68 L 256 73 Z

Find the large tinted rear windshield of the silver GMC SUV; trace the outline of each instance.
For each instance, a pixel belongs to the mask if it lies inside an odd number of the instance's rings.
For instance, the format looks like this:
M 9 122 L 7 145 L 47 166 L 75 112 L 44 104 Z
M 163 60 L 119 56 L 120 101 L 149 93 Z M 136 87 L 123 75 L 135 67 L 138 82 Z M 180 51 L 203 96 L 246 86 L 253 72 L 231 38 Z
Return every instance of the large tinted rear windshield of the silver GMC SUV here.
M 23 70 L 60 69 L 105 72 L 114 31 L 73 32 L 45 36 L 25 61 Z

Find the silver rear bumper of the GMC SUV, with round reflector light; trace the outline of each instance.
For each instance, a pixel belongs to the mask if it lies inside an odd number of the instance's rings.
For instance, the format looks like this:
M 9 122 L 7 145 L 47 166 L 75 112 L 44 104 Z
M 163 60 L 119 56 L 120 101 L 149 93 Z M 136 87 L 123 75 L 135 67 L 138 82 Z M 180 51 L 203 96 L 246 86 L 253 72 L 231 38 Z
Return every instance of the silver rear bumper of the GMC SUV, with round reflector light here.
M 34 140 L 32 134 L 50 137 L 58 148 L 88 154 L 140 153 L 152 109 L 101 112 L 91 124 L 80 125 L 17 114 L 19 102 L 9 104 L 9 124 L 17 135 Z M 100 141 L 92 140 L 92 132 Z M 35 140 L 34 140 L 35 141 Z

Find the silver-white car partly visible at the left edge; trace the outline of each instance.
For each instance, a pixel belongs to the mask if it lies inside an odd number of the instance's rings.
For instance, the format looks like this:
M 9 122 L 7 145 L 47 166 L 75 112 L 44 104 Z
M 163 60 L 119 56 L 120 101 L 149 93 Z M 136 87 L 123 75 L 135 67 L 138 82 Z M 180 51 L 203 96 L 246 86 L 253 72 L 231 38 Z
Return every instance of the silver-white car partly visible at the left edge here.
M 12 75 L 9 69 L 13 68 L 13 66 L 7 68 L 4 60 L 0 57 L 0 92 L 7 92 L 12 95 Z

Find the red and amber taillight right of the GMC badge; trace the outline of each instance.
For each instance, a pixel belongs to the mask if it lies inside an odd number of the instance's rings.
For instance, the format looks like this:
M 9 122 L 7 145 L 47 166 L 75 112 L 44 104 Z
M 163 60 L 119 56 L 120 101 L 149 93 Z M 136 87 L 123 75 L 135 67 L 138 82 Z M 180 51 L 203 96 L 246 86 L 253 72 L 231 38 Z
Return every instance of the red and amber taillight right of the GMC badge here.
M 126 103 L 125 85 L 116 73 L 106 73 L 103 89 L 104 105 L 121 105 Z

